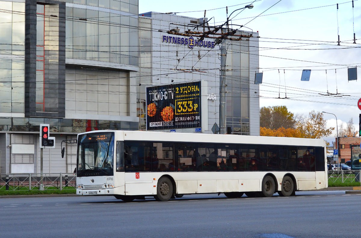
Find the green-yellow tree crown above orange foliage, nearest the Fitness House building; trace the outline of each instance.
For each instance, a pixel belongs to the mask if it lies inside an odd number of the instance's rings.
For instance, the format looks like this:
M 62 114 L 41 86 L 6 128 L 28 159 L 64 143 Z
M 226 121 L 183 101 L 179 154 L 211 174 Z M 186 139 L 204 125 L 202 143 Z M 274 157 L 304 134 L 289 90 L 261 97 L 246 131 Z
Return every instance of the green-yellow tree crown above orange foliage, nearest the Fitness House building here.
M 268 106 L 260 109 L 260 127 L 268 129 L 295 128 L 294 114 L 286 106 Z

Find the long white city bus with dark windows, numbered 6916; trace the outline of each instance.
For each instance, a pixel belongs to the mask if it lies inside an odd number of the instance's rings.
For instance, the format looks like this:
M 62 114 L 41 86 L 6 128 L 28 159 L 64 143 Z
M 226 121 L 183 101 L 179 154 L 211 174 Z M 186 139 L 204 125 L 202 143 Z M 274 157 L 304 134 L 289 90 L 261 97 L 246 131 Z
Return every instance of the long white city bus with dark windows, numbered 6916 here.
M 319 139 L 148 131 L 78 135 L 77 194 L 124 201 L 183 194 L 295 195 L 327 188 Z

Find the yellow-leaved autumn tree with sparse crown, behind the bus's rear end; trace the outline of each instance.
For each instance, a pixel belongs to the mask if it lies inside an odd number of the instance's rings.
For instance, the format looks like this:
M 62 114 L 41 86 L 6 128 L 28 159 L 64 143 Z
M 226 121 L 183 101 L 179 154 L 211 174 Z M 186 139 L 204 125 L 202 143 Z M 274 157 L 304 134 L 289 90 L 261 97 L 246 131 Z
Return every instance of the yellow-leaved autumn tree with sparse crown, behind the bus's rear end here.
M 326 128 L 326 120 L 321 112 L 310 111 L 308 116 L 301 117 L 296 123 L 296 128 L 302 133 L 303 138 L 321 139 L 331 135 L 334 127 Z

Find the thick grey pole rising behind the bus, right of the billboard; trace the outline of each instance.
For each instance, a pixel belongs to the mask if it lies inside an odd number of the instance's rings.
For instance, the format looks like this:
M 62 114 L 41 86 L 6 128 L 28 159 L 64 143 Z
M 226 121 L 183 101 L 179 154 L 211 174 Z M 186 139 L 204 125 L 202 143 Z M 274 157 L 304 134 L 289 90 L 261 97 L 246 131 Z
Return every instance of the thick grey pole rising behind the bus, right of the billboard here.
M 221 72 L 219 73 L 219 134 L 226 133 L 226 40 L 221 42 Z

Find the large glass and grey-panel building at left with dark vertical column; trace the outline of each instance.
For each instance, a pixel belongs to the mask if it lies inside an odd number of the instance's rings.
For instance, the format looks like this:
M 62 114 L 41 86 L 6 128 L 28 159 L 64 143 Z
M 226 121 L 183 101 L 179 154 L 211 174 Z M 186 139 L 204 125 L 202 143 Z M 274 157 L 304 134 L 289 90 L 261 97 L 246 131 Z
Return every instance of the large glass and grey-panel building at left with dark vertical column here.
M 139 129 L 138 0 L 0 6 L 0 173 L 40 172 L 40 124 L 50 125 L 56 148 L 82 132 Z M 66 145 L 64 158 L 56 151 L 44 149 L 44 173 L 73 172 L 76 146 Z

